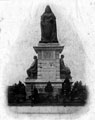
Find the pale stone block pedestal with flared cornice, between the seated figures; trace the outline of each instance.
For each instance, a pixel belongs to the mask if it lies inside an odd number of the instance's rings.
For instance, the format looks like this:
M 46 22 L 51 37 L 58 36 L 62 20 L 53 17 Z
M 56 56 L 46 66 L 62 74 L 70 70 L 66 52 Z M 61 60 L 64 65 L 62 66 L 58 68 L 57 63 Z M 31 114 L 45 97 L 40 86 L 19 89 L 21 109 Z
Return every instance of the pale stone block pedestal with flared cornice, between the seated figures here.
M 38 54 L 38 76 L 37 81 L 58 82 L 60 81 L 59 54 L 64 46 L 58 43 L 39 43 L 34 49 Z

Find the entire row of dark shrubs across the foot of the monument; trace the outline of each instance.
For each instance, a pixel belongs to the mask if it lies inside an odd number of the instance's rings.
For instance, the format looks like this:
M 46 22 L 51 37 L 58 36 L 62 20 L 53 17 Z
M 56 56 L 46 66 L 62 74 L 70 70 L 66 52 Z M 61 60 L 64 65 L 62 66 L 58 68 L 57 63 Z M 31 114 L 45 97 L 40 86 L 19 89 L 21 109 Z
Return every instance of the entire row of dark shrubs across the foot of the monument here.
M 38 92 L 33 87 L 31 96 L 26 100 L 25 86 L 19 82 L 8 87 L 8 103 L 9 105 L 64 105 L 64 106 L 83 106 L 87 101 L 87 87 L 82 82 L 71 82 L 66 78 L 62 83 L 61 91 L 53 95 L 54 89 L 51 82 L 48 82 L 44 93 Z

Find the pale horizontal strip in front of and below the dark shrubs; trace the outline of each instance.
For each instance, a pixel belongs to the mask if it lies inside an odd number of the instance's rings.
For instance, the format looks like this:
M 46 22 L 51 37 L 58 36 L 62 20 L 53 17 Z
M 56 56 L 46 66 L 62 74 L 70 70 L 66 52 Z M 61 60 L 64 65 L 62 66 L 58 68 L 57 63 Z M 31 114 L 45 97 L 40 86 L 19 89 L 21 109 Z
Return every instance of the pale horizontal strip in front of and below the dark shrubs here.
M 48 119 L 50 119 L 50 118 L 53 118 L 53 119 L 56 119 L 56 118 L 62 119 L 63 118 L 64 119 L 64 116 L 66 116 L 66 114 L 67 114 L 68 118 L 69 119 L 72 118 L 72 120 L 73 120 L 74 118 L 76 118 L 77 113 L 78 113 L 78 115 L 79 115 L 79 113 L 83 114 L 89 110 L 89 107 L 87 106 L 84 110 L 84 106 L 83 107 L 82 106 L 66 106 L 66 107 L 64 107 L 64 106 L 44 106 L 44 107 L 43 106 L 33 106 L 33 107 L 32 106 L 29 106 L 29 107 L 28 106 L 26 106 L 26 107 L 16 106 L 16 107 L 13 107 L 12 106 L 12 107 L 9 107 L 9 110 L 13 111 L 14 113 L 17 113 L 17 114 L 18 113 L 19 114 L 32 114 L 32 115 L 34 114 L 34 115 L 36 115 L 36 117 L 38 117 L 38 119 L 39 119 L 39 117 L 42 117 L 42 114 L 50 114 L 47 116 L 43 115 L 44 119 L 46 117 Z M 31 117 L 32 117 L 32 115 L 31 115 Z M 52 115 L 52 117 L 50 117 L 51 115 Z M 33 117 L 33 119 L 34 119 L 34 117 Z

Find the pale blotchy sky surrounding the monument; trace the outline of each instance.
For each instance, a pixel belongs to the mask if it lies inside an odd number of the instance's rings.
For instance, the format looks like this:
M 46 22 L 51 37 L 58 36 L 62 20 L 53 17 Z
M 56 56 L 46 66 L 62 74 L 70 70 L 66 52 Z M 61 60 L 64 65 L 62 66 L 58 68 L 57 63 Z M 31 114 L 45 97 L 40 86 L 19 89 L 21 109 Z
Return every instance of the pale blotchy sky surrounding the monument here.
M 91 22 L 95 25 L 91 14 L 87 11 L 89 3 L 75 1 L 68 5 L 69 1 L 34 2 L 34 1 L 5 1 L 1 2 L 1 52 L 4 52 L 5 60 L 3 77 L 6 84 L 25 81 L 26 70 L 33 62 L 36 55 L 33 46 L 41 39 L 40 17 L 47 4 L 50 5 L 56 16 L 57 36 L 60 45 L 64 45 L 64 62 L 70 68 L 73 81 L 86 79 L 87 62 L 91 62 L 86 51 L 89 40 L 95 36 L 90 32 Z M 92 2 L 93 3 L 93 2 Z M 90 3 L 90 4 L 92 4 Z M 92 5 L 93 6 L 93 5 Z M 89 16 L 88 16 L 89 15 Z M 91 17 L 93 18 L 93 16 Z M 88 41 L 87 41 L 88 39 Z M 88 43 L 87 43 L 88 42 Z M 93 49 L 91 43 L 89 44 Z M 90 54 L 92 54 L 90 52 Z M 4 83 L 5 84 L 5 83 Z

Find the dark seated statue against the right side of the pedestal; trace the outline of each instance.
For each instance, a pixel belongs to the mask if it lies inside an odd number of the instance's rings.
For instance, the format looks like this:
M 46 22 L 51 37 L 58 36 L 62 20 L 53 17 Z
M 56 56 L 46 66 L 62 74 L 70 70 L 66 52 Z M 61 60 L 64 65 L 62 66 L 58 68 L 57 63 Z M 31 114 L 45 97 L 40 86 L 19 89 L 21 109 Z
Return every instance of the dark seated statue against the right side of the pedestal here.
M 61 55 L 61 58 L 60 58 L 60 78 L 63 79 L 63 78 L 71 78 L 71 71 L 70 69 L 65 66 L 64 64 L 64 61 L 63 61 L 63 58 L 64 58 L 64 55 Z

